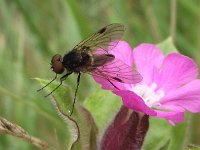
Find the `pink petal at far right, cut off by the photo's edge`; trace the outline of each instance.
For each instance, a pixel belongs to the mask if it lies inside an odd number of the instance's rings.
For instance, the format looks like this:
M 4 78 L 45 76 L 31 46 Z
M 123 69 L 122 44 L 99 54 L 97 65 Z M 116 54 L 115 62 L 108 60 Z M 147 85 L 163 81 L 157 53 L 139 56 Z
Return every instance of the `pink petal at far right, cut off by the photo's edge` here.
M 196 79 L 174 90 L 160 102 L 165 109 L 200 112 L 200 80 Z

